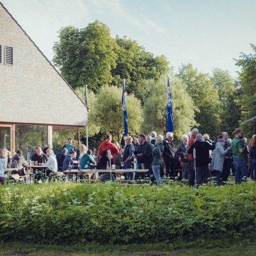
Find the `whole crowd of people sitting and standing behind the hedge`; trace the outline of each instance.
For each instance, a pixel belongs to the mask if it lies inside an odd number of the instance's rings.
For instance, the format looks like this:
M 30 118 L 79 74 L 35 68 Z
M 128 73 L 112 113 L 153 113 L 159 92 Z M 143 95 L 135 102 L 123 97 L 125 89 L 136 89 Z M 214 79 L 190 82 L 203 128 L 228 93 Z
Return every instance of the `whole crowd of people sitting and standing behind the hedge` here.
M 6 181 L 6 168 L 16 168 L 15 172 L 24 175 L 24 168 L 29 165 L 27 160 L 21 150 L 11 157 L 8 150 L 0 149 L 0 182 L 4 184 Z M 70 168 L 108 170 L 115 166 L 124 170 L 147 169 L 145 173 L 127 172 L 125 179 L 148 178 L 156 180 L 157 186 L 164 177 L 186 180 L 190 186 L 202 186 L 214 177 L 215 184 L 220 186 L 227 183 L 230 173 L 235 175 L 236 184 L 240 184 L 246 182 L 247 177 L 256 178 L 256 136 L 253 135 L 247 143 L 243 131 L 236 129 L 233 140 L 228 138 L 227 132 L 221 132 L 211 141 L 208 134 L 202 135 L 195 128 L 182 136 L 178 147 L 173 144 L 172 132 L 167 132 L 165 138 L 157 136 L 156 132 L 147 136 L 141 133 L 134 140 L 127 136 L 124 147 L 120 147 L 118 143 L 112 143 L 111 134 L 107 134 L 99 150 L 94 148 L 93 151 L 84 144 L 76 148 L 72 138 L 68 138 L 59 154 L 54 154 L 51 145 L 44 149 L 36 147 L 31 161 L 45 166 L 47 177 Z M 38 182 L 42 179 L 41 173 L 40 170 L 36 172 Z M 115 179 L 115 172 L 113 177 L 108 172 L 102 173 L 100 179 Z

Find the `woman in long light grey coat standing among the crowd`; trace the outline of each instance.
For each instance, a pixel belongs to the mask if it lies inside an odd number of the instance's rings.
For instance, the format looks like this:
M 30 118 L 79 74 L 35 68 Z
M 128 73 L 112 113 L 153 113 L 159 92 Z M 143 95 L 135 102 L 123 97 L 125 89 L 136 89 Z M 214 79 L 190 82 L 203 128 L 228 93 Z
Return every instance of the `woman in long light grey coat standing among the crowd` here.
M 225 154 L 227 154 L 228 150 L 230 147 L 228 147 L 226 150 L 224 149 L 225 147 L 225 140 L 224 139 L 219 139 L 217 141 L 216 147 L 213 152 L 213 175 L 215 177 L 215 183 L 216 185 L 220 186 L 220 176 L 223 171 L 223 164 L 224 164 L 224 159 L 225 159 Z

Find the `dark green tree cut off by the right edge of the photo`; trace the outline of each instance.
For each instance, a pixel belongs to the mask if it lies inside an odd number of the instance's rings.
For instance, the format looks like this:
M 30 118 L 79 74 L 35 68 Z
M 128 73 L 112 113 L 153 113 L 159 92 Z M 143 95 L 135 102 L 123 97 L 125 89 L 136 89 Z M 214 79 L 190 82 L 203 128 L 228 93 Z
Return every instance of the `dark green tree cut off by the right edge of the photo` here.
M 239 72 L 239 81 L 241 83 L 242 94 L 237 100 L 241 106 L 241 121 L 256 116 L 256 45 L 251 45 L 253 53 L 241 53 L 236 65 L 241 68 Z M 243 125 L 245 135 L 249 138 L 256 133 L 256 123 Z

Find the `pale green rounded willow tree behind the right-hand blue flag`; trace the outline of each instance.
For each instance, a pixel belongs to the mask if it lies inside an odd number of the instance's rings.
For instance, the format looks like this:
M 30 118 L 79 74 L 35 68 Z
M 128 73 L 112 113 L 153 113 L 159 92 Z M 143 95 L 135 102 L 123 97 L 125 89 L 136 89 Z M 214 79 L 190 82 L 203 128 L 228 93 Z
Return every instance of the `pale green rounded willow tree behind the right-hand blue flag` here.
M 146 134 L 156 131 L 159 134 L 166 133 L 166 93 L 167 77 L 162 76 L 159 81 L 150 81 L 151 94 L 143 106 L 144 122 L 141 129 Z M 195 108 L 193 100 L 186 92 L 186 85 L 179 78 L 171 80 L 172 109 L 175 136 L 180 138 L 182 134 L 190 131 L 196 124 Z

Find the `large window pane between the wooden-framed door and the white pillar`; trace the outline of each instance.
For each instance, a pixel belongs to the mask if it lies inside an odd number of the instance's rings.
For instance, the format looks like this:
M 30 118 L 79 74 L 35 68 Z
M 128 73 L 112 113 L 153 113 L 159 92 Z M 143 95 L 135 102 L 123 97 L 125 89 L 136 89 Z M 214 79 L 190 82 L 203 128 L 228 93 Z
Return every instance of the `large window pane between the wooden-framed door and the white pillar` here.
M 46 125 L 15 125 L 15 148 L 22 150 L 24 156 L 27 152 L 34 154 L 37 146 L 44 147 L 46 144 Z

